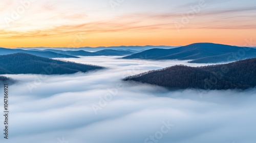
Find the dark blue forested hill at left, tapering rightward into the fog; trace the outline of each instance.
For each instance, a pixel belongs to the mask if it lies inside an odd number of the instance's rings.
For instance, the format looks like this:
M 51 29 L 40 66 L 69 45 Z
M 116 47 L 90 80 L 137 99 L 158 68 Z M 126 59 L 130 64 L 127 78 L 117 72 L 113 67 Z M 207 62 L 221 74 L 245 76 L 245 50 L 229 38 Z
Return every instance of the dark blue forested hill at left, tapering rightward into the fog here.
M 102 69 L 101 66 L 80 64 L 38 57 L 26 53 L 0 56 L 0 74 L 62 75 Z

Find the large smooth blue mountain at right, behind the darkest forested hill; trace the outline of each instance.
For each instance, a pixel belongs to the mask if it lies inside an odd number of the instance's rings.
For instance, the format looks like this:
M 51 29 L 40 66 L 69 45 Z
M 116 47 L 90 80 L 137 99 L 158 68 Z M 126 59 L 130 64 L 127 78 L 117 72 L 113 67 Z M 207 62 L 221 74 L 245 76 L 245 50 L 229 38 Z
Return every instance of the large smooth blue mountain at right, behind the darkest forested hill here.
M 150 49 L 123 59 L 191 60 L 191 63 L 230 62 L 255 58 L 256 49 L 215 43 L 194 43 L 173 49 Z

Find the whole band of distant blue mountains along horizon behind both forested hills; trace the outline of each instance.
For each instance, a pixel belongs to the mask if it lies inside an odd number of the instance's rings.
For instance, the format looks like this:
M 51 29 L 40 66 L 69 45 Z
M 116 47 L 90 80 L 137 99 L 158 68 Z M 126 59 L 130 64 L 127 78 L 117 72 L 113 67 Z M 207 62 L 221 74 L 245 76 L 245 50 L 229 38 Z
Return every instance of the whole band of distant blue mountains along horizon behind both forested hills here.
M 157 47 L 157 48 L 156 48 Z M 47 48 L 47 49 L 46 49 Z M 107 49 L 106 49 L 107 48 Z M 87 50 L 87 51 L 85 51 Z M 191 63 L 220 63 L 256 57 L 253 47 L 240 47 L 216 43 L 193 43 L 186 46 L 111 46 L 35 49 L 4 49 L 0 55 L 27 53 L 46 58 L 79 58 L 79 56 L 125 56 L 123 59 L 190 60 Z

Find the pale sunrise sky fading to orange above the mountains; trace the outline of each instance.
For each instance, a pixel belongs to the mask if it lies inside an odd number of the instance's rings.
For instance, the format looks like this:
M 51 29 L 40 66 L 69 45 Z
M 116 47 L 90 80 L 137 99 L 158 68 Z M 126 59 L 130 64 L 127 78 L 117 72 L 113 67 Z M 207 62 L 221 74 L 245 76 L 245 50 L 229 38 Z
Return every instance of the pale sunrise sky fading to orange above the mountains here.
M 255 13 L 254 0 L 1 0 L 0 46 L 243 46 Z

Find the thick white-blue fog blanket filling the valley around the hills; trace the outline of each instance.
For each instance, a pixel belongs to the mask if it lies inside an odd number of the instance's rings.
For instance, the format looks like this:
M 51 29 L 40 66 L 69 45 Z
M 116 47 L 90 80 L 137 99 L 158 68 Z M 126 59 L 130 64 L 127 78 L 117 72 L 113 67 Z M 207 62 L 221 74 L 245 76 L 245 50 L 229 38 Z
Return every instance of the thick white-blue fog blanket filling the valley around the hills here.
M 6 75 L 19 82 L 9 86 L 9 139 L 2 134 L 0 141 L 255 142 L 255 89 L 167 91 L 124 82 L 147 70 L 205 64 L 118 58 L 65 59 L 108 67 L 90 73 Z M 3 129 L 3 116 L 1 121 Z

